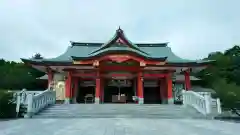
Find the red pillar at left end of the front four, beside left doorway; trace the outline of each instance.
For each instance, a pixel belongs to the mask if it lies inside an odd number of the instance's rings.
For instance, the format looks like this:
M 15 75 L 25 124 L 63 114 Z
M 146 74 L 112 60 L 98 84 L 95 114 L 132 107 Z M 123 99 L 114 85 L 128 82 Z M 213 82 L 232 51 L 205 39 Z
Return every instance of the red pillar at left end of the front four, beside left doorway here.
M 72 83 L 72 74 L 67 72 L 67 78 L 65 80 L 65 103 L 69 104 L 71 99 L 71 83 Z

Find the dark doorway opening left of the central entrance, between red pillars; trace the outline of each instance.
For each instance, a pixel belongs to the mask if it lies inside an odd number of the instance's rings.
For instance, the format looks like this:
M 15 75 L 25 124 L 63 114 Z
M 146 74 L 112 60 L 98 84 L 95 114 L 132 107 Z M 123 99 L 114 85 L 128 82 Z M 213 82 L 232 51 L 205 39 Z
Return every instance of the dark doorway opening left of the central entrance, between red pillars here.
M 93 101 L 95 97 L 95 86 L 79 87 L 77 94 L 77 103 L 94 103 L 90 98 L 86 99 L 86 96 L 92 95 Z

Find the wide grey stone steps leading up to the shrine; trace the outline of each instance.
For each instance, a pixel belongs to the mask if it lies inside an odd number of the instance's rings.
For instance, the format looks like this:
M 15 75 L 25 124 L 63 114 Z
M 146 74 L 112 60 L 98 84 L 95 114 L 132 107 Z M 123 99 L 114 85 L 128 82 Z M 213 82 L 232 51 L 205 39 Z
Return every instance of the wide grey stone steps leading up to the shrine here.
M 206 118 L 190 107 L 151 104 L 55 104 L 33 118 Z

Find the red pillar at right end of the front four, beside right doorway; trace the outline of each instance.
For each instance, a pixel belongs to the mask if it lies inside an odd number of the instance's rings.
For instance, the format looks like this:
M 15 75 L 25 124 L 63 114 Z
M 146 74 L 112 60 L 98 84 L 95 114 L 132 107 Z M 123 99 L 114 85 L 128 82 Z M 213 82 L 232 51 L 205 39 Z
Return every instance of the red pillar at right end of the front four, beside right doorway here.
M 167 84 L 167 102 L 173 103 L 173 92 L 172 92 L 172 76 L 171 73 L 168 73 L 166 76 L 166 84 Z

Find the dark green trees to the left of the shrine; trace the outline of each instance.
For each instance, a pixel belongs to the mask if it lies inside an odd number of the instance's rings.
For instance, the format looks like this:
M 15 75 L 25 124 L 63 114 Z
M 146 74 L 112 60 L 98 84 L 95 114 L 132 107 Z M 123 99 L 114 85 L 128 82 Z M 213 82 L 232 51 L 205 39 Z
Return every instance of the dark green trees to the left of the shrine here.
M 35 57 L 42 58 L 40 54 L 34 55 L 34 58 Z M 27 66 L 22 62 L 0 59 L 0 89 L 40 89 L 44 87 L 44 81 L 36 78 L 43 75 L 43 72 Z

